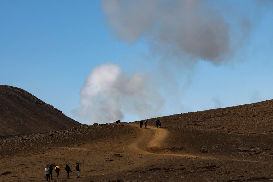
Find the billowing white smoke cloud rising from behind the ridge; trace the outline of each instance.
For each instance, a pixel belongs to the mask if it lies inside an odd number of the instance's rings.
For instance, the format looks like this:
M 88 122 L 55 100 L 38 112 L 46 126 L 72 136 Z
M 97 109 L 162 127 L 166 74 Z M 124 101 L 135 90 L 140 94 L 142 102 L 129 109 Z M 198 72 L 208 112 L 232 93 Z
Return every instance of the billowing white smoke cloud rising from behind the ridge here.
M 80 91 L 81 108 L 72 113 L 86 118 L 88 124 L 122 120 L 124 112 L 139 117 L 154 116 L 164 100 L 151 85 L 149 77 L 143 74 L 129 77 L 119 66 L 105 63 L 88 75 Z

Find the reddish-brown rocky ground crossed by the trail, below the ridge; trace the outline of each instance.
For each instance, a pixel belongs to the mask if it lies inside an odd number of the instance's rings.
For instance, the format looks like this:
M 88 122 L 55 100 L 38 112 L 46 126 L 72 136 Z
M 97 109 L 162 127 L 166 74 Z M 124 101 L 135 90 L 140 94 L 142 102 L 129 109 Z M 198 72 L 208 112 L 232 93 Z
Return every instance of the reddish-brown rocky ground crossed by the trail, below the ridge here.
M 61 167 L 52 182 L 273 181 L 273 100 L 147 123 L 147 129 L 110 123 L 1 137 L 0 181 L 45 181 L 49 163 Z

